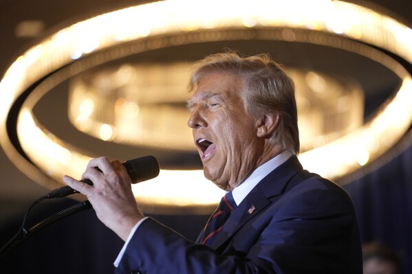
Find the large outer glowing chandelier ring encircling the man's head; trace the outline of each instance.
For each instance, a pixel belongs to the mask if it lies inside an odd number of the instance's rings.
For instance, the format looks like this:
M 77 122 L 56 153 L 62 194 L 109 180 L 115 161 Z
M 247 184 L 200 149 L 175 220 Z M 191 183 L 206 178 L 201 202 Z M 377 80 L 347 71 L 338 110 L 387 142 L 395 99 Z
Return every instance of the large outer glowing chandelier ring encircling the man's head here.
M 253 39 L 342 49 L 378 62 L 400 78 L 393 98 L 366 124 L 299 155 L 304 168 L 339 179 L 378 159 L 411 126 L 411 74 L 379 49 L 411 64 L 412 30 L 390 16 L 331 0 L 171 0 L 81 21 L 17 58 L 0 82 L 0 144 L 34 181 L 58 187 L 63 174 L 80 177 L 91 156 L 53 135 L 34 117 L 36 103 L 56 85 L 98 65 L 149 50 Z M 194 181 L 197 185 L 188 187 Z M 162 170 L 157 179 L 133 185 L 133 190 L 147 205 L 210 205 L 221 192 L 205 181 L 202 170 Z

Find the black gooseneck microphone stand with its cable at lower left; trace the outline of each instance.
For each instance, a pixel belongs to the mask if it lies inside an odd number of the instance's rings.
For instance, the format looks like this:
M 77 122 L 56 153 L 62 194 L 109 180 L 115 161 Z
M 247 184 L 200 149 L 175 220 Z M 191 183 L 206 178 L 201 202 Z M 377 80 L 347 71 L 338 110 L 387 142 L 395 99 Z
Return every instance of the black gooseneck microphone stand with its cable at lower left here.
M 36 205 L 40 201 L 43 201 L 44 199 L 45 197 L 42 197 L 39 200 L 35 201 L 30 206 L 30 208 L 28 209 L 28 212 L 25 214 L 23 218 L 23 225 L 21 226 L 21 229 L 19 229 L 17 234 L 0 249 L 0 262 L 4 258 L 6 258 L 6 256 L 10 254 L 14 249 L 16 249 L 16 247 L 18 247 L 22 242 L 24 242 L 25 240 L 30 238 L 32 235 L 34 235 L 34 233 L 36 233 L 37 231 L 49 225 L 52 225 L 54 222 L 57 222 L 58 220 L 62 218 L 65 218 L 67 216 L 80 212 L 82 210 L 91 208 L 91 203 L 89 201 L 84 201 L 83 203 L 78 203 L 77 205 L 73 205 L 72 207 L 63 209 L 62 211 L 57 212 L 48 218 L 45 218 L 45 220 L 38 222 L 36 225 L 34 225 L 28 230 L 24 229 L 25 218 L 28 216 L 30 209 L 32 209 L 34 205 Z

